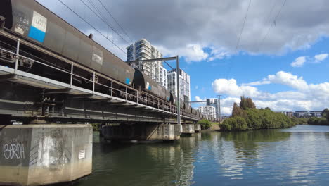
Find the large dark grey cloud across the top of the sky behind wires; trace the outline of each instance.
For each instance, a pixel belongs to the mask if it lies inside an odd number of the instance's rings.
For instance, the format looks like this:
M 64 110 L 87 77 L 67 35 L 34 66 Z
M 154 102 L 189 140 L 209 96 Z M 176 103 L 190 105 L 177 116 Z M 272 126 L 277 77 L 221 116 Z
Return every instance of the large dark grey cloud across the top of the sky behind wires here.
M 79 30 L 89 29 L 89 25 L 83 23 L 58 1 L 37 1 L 75 25 Z M 212 61 L 215 58 L 223 58 L 226 52 L 232 54 L 236 48 L 237 35 L 240 34 L 240 27 L 237 25 L 242 24 L 242 13 L 245 13 L 248 6 L 248 1 L 216 0 L 209 0 L 207 4 L 198 0 L 120 0 L 104 1 L 103 3 L 133 41 L 145 37 L 152 44 L 170 49 L 172 51 L 170 54 L 184 56 L 188 61 L 201 61 L 202 59 Z M 93 26 L 101 30 L 104 35 L 107 35 L 108 32 L 112 33 L 112 30 L 94 16 L 82 2 L 66 1 L 65 4 L 74 8 L 89 23 L 93 23 Z M 285 51 L 305 49 L 317 42 L 320 37 L 328 37 L 329 19 L 326 13 L 329 11 L 329 1 L 300 0 L 298 3 L 287 1 L 280 10 L 282 4 L 282 1 L 278 1 L 273 6 L 273 13 L 280 11 L 276 25 L 273 26 L 273 15 L 269 15 L 271 11 L 269 2 L 264 0 L 252 2 L 240 40 L 240 51 L 247 51 L 250 54 L 276 55 Z M 101 7 L 98 3 L 96 5 Z M 163 10 L 166 10 L 166 13 L 163 13 Z M 101 8 L 101 11 L 105 10 Z M 267 28 L 271 25 L 273 27 L 271 27 L 269 37 L 264 39 L 267 35 Z M 123 34 L 120 27 L 116 24 L 113 26 L 128 41 L 127 43 L 124 42 L 124 39 L 119 39 L 116 44 L 129 45 L 131 41 Z M 114 35 L 117 34 L 114 33 Z M 258 39 L 255 39 L 254 36 L 257 36 Z M 260 43 L 262 45 L 259 45 Z M 205 47 L 214 49 L 207 54 L 204 50 Z M 117 55 L 121 56 L 121 54 Z

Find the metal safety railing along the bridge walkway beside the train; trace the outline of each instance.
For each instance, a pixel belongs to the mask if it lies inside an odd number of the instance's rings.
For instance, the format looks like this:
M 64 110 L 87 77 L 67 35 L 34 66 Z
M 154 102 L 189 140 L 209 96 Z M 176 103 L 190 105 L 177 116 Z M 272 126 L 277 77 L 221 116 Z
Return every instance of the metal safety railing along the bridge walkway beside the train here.
M 19 64 L 18 63 L 20 62 L 20 59 L 25 59 L 27 61 L 32 61 L 33 63 L 38 63 L 39 65 L 45 66 L 46 68 L 51 68 L 53 70 L 58 70 L 59 73 L 64 73 L 64 74 L 68 75 L 69 79 L 70 79 L 69 83 L 68 83 L 70 85 L 70 88 L 72 88 L 74 86 L 75 87 L 80 87 L 80 88 L 86 88 L 84 86 L 74 85 L 74 80 L 79 79 L 79 80 L 82 80 L 82 81 L 85 81 L 85 82 L 91 82 L 92 83 L 92 86 L 91 86 L 91 88 L 89 87 L 89 90 L 91 90 L 93 94 L 95 94 L 95 92 L 97 92 L 98 89 L 103 88 L 103 89 L 107 89 L 109 91 L 109 92 L 105 92 L 105 94 L 110 96 L 110 99 L 112 99 L 113 97 L 117 97 L 117 98 L 125 99 L 126 101 L 135 102 L 136 105 L 145 104 L 145 106 L 150 106 L 153 109 L 168 111 L 170 113 L 177 113 L 176 106 L 174 106 L 170 103 L 167 103 L 167 102 L 165 102 L 165 101 L 163 101 L 163 100 L 161 100 L 161 99 L 159 99 L 159 98 L 157 98 L 153 95 L 139 92 L 137 89 L 129 87 L 128 85 L 124 85 L 123 83 L 118 82 L 116 80 L 113 80 L 112 78 L 107 77 L 107 76 L 105 76 L 101 73 L 97 73 L 94 70 L 91 70 L 89 68 L 81 66 L 78 63 L 74 63 L 74 62 L 68 61 L 68 60 L 63 61 L 63 62 L 66 62 L 66 63 L 70 64 L 70 70 L 67 70 L 65 68 L 58 68 L 56 66 L 49 65 L 49 64 L 52 64 L 52 63 L 49 62 L 49 61 L 46 61 L 44 59 L 42 59 L 42 61 L 44 61 L 44 62 L 41 62 L 41 61 L 37 61 L 33 58 L 29 58 L 27 56 L 24 56 L 24 55 L 20 54 L 20 44 L 21 44 L 20 39 L 17 39 L 17 46 L 16 47 L 8 44 L 8 45 L 12 46 L 12 48 L 15 50 L 15 52 L 0 47 L 1 51 L 5 51 L 8 54 L 12 54 L 14 56 L 14 58 L 15 58 L 15 67 L 14 67 L 14 72 L 13 72 L 14 74 L 17 74 L 18 71 L 19 71 Z M 27 53 L 27 52 L 24 51 L 24 53 Z M 78 73 L 76 73 L 77 70 L 86 71 L 87 73 L 91 74 L 92 78 L 88 79 L 86 77 L 83 77 L 82 75 L 79 75 Z M 98 82 L 99 77 L 103 78 L 103 80 L 107 80 L 107 82 L 110 85 L 105 85 L 103 83 Z M 114 85 L 116 85 L 117 87 L 124 87 L 124 90 L 123 89 L 117 89 L 117 88 L 115 88 Z M 98 87 L 97 89 L 96 89 L 96 86 Z M 99 88 L 99 87 L 101 87 L 101 88 Z M 195 116 L 192 116 L 192 114 L 185 113 L 184 111 L 181 111 L 181 113 L 182 113 L 182 116 L 186 115 L 186 116 L 191 117 L 191 118 L 196 118 Z

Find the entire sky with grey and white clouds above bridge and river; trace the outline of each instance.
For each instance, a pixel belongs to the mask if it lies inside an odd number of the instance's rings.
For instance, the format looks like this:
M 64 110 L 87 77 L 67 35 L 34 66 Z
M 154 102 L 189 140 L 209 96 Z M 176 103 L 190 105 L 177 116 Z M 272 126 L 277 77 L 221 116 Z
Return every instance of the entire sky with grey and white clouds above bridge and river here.
M 60 0 L 80 18 L 59 0 L 37 1 L 124 61 L 141 38 L 179 55 L 191 101 L 220 94 L 223 114 L 240 96 L 275 111 L 329 107 L 329 1 Z

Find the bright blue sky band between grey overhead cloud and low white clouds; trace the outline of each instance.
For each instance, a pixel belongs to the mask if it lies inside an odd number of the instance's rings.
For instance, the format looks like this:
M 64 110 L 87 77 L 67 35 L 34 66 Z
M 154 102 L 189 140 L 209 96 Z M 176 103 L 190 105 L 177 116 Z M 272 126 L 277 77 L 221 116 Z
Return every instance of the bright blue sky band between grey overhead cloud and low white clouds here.
M 308 83 L 318 84 L 329 82 L 329 58 L 314 63 L 309 59 L 302 67 L 292 67 L 291 63 L 299 56 L 314 57 L 318 54 L 327 54 L 329 49 L 329 38 L 319 39 L 309 49 L 288 51 L 280 56 L 273 55 L 250 55 L 240 52 L 234 56 L 217 59 L 211 62 L 200 61 L 198 63 L 186 63 L 181 58 L 181 67 L 191 75 L 191 97 L 214 97 L 211 84 L 215 79 L 234 78 L 238 84 L 262 80 L 267 75 L 276 74 L 278 71 L 290 72 L 302 76 Z M 228 70 L 231 66 L 231 71 Z M 200 75 L 200 72 L 203 72 Z M 195 87 L 198 87 L 195 89 Z M 258 87 L 264 92 L 281 92 L 291 90 L 287 85 L 273 84 Z

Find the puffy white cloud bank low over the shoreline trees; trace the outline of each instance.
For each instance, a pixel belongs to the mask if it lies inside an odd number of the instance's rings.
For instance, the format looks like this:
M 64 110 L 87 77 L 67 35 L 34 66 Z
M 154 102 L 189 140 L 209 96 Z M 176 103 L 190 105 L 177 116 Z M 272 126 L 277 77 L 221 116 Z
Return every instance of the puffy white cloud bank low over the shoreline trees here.
M 217 94 L 226 94 L 227 100 L 238 102 L 239 97 L 245 95 L 251 97 L 258 108 L 270 107 L 272 110 L 297 111 L 297 110 L 323 110 L 329 105 L 329 82 L 320 84 L 308 84 L 303 77 L 279 71 L 275 75 L 268 75 L 262 82 L 287 85 L 292 90 L 285 92 L 262 92 L 256 87 L 237 85 L 236 80 L 217 79 L 212 82 L 212 88 Z M 232 109 L 234 101 L 222 101 L 225 111 Z

